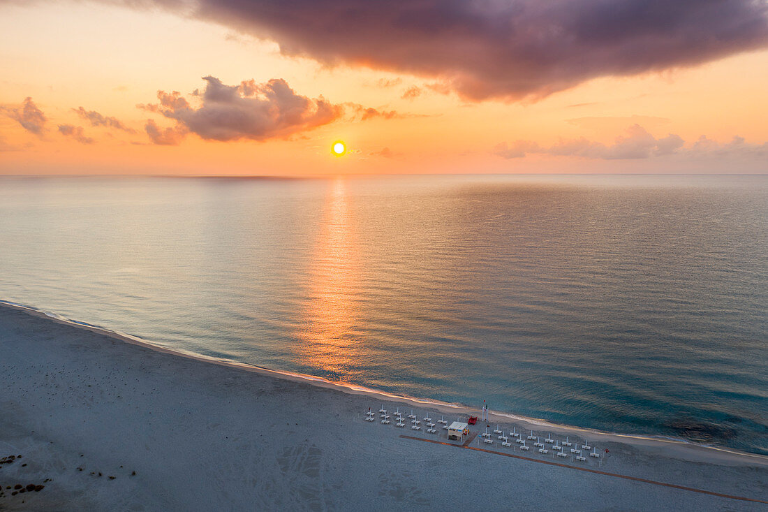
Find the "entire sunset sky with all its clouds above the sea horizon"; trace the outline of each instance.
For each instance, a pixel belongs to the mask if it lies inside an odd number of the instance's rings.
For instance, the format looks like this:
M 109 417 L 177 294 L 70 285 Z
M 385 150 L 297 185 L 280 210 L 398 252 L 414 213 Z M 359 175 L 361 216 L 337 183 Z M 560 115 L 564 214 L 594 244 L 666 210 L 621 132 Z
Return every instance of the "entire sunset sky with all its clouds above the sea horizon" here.
M 766 84 L 768 0 L 0 0 L 0 174 L 765 174 Z

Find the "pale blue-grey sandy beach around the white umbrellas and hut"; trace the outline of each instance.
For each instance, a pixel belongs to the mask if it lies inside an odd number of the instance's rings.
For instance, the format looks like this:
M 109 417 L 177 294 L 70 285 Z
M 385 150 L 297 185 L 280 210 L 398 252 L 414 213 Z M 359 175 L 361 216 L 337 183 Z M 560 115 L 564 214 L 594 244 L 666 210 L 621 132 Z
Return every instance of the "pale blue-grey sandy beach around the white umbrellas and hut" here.
M 524 453 L 496 436 L 470 444 L 608 474 L 589 473 L 399 437 L 446 441 L 378 414 L 363 421 L 382 404 L 419 418 L 464 412 L 204 361 L 2 305 L 0 510 L 768 510 L 611 476 L 768 501 L 768 457 L 493 416 L 490 430 L 586 438 L 602 457 Z M 44 487 L 12 495 L 16 484 Z

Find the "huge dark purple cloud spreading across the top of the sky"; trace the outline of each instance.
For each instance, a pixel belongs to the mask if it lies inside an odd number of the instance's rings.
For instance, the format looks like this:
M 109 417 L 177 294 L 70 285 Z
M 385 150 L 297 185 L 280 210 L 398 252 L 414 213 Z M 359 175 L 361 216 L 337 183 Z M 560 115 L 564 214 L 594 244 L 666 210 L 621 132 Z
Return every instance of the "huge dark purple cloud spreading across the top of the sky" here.
M 270 38 L 285 55 L 438 78 L 470 100 L 541 98 L 768 45 L 764 0 L 123 2 Z

